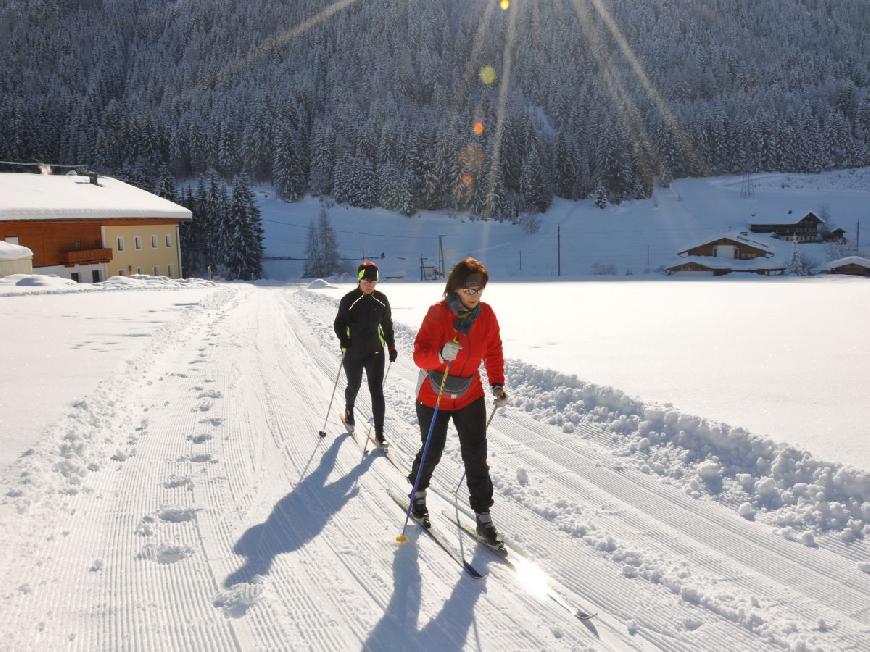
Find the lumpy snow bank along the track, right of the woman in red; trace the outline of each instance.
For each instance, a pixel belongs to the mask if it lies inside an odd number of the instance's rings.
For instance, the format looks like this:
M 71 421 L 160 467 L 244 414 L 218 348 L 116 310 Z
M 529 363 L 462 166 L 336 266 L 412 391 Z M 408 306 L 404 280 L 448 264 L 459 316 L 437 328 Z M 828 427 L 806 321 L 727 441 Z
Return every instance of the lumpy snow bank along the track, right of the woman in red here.
M 512 406 L 566 433 L 599 439 L 639 470 L 744 518 L 763 518 L 789 539 L 815 545 L 813 533 L 844 541 L 870 536 L 865 471 L 518 361 L 507 365 L 507 385 Z

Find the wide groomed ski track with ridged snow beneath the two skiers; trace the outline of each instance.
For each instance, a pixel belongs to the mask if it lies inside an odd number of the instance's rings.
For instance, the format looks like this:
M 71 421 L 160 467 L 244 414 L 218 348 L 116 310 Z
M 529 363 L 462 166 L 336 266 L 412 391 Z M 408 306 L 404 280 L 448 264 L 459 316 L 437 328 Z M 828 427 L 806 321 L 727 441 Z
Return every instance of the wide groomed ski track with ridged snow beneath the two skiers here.
M 29 537 L 0 545 L 14 558 L 0 562 L 0 649 L 689 652 L 788 649 L 795 631 L 828 649 L 866 644 L 870 577 L 853 561 L 624 468 L 591 420 L 584 439 L 509 408 L 489 435 L 497 525 L 565 602 L 598 613 L 590 623 L 467 538 L 483 580 L 413 523 L 397 545 L 388 488 L 408 485 L 343 432 L 343 374 L 317 436 L 339 364 L 335 309 L 301 287 L 218 288 L 77 404 L 59 450 L 84 412 L 88 471 L 62 498 L 35 490 L 0 512 Z M 403 469 L 419 443 L 412 339 L 397 329 L 385 387 Z M 369 414 L 364 384 L 358 429 Z M 37 466 L 69 461 L 50 451 Z M 461 473 L 449 437 L 430 491 L 448 537 L 441 513 Z M 661 572 L 675 567 L 678 584 Z

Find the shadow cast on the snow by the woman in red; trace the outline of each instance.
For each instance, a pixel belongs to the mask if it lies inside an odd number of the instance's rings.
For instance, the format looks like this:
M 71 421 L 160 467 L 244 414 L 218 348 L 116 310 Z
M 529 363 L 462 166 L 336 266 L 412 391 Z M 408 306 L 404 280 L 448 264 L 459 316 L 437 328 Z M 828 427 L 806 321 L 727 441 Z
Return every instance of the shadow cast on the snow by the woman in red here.
M 369 634 L 363 646 L 365 650 L 451 652 L 466 648 L 467 632 L 474 623 L 475 604 L 486 591 L 486 582 L 461 574 L 438 615 L 422 629 L 418 628 L 422 598 L 420 551 L 417 547 L 420 536 L 424 535 L 419 530 L 412 531 L 408 541 L 397 546 L 393 559 L 393 596 L 384 609 L 383 618 Z M 476 559 L 477 555 L 471 560 L 472 564 Z M 477 647 L 480 648 L 479 641 Z

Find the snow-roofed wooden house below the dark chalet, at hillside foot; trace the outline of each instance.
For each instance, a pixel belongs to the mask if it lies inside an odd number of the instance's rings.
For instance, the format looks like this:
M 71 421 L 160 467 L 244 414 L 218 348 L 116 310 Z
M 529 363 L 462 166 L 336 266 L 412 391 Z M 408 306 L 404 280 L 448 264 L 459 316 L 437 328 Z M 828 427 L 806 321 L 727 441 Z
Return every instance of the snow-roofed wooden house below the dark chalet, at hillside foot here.
M 784 274 L 785 264 L 776 260 L 775 252 L 764 242 L 753 240 L 745 232 L 721 235 L 677 252 L 680 258 L 665 268 L 668 274 L 703 274 L 723 276 L 732 272 Z

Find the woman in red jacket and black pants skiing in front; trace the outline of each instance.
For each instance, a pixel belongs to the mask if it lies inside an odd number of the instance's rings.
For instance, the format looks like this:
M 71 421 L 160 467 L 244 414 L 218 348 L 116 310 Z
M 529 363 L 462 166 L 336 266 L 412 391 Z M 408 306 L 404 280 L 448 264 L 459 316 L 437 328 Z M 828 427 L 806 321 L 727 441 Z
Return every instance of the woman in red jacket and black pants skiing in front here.
M 453 419 L 465 463 L 469 502 L 477 514 L 477 532 L 488 543 L 498 546 L 501 537 L 489 514 L 492 481 L 486 463 L 486 405 L 478 371 L 481 362 L 486 365 L 495 407 L 505 405 L 507 395 L 504 392 L 504 357 L 498 320 L 492 308 L 480 300 L 488 280 L 489 274 L 480 261 L 466 258 L 458 263 L 447 278 L 444 300 L 429 308 L 414 340 L 414 362 L 421 369 L 417 419 L 423 446 L 417 453 L 408 479 L 414 484 L 417 478 L 420 457 L 435 413 L 438 389 L 449 365 L 432 440 L 413 497 L 413 515 L 424 527 L 429 527 L 426 488 L 441 460 L 447 425 Z

